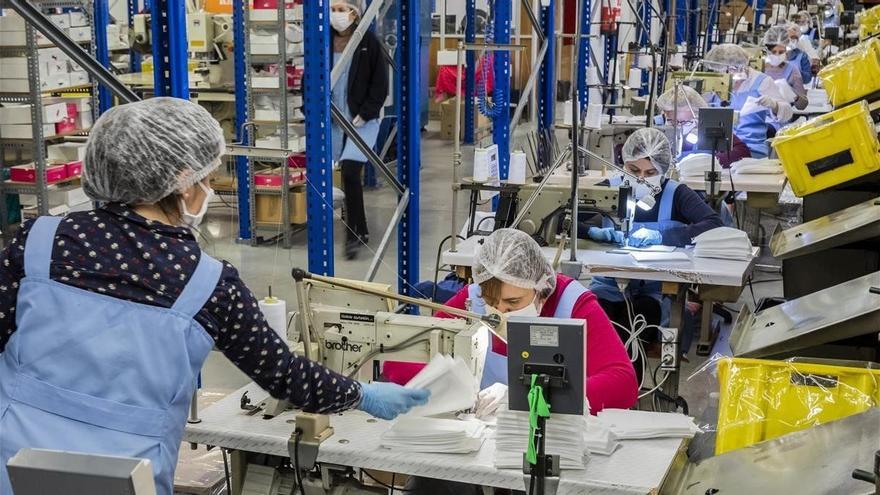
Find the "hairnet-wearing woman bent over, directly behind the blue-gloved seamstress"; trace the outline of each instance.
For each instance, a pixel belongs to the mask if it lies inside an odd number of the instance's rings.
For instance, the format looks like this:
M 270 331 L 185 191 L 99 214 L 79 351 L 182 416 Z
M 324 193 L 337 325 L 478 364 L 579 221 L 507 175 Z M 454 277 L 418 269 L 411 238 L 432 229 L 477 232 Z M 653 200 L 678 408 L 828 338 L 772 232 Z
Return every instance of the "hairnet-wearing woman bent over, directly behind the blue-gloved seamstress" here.
M 697 93 L 697 90 L 684 84 L 678 86 L 678 97 L 675 88 L 670 88 L 657 98 L 657 108 L 663 112 L 663 117 L 668 125 L 677 119 L 679 126 L 679 150 L 678 160 L 691 153 L 701 152 L 697 147 L 697 126 L 699 125 L 700 109 L 708 107 L 706 100 Z M 724 167 L 743 158 L 752 156 L 751 150 L 742 140 L 733 135 L 730 151 L 716 151 L 718 163 Z

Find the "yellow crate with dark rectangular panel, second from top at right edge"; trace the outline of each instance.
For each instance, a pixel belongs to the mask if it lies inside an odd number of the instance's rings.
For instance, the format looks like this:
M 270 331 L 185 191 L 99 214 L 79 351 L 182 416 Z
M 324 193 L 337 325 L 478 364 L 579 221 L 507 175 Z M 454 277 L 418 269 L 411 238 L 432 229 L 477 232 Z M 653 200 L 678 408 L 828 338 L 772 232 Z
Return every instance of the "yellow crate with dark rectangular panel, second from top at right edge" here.
M 865 101 L 783 129 L 772 146 L 798 196 L 880 170 L 880 141 Z

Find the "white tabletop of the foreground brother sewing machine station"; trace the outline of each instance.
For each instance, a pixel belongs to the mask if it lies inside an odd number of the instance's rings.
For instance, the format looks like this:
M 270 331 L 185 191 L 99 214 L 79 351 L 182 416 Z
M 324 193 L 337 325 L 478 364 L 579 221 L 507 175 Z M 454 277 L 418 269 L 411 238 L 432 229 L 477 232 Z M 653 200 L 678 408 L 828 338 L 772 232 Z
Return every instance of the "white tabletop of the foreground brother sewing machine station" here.
M 288 457 L 287 442 L 294 429 L 291 424 L 293 414 L 286 412 L 271 420 L 264 420 L 259 415 L 250 416 L 239 406 L 244 392 L 248 392 L 254 403 L 268 396 L 254 383 L 233 392 L 204 409 L 200 423 L 188 424 L 184 441 Z M 387 421 L 351 411 L 332 416 L 330 425 L 335 433 L 321 444 L 319 463 L 512 490 L 524 488 L 520 471 L 494 467 L 494 438 L 486 439 L 480 451 L 472 454 L 397 453 L 379 446 L 379 437 L 391 425 Z M 591 456 L 585 470 L 563 471 L 557 493 L 656 493 L 685 443 L 680 438 L 621 442 L 620 448 L 611 456 Z

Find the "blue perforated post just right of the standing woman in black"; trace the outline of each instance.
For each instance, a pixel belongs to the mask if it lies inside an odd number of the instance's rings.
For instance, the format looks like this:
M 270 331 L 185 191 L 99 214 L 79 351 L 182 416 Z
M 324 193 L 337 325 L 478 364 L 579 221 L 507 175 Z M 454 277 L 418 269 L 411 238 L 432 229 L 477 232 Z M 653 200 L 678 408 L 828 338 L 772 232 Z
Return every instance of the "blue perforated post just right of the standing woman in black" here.
M 398 113 L 397 177 L 409 191 L 409 203 L 397 230 L 398 292 L 414 295 L 419 283 L 419 169 L 421 168 L 421 71 L 419 0 L 400 0 L 400 45 L 394 92 Z M 416 308 L 409 308 L 415 312 Z

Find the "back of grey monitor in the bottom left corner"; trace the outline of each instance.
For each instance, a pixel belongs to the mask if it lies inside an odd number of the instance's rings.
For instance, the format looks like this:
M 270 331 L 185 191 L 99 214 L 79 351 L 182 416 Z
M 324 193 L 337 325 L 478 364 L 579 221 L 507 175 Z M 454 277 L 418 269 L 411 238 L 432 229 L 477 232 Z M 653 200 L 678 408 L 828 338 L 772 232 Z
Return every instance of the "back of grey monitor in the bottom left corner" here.
M 153 468 L 147 459 L 21 449 L 6 469 L 15 495 L 156 495 Z

